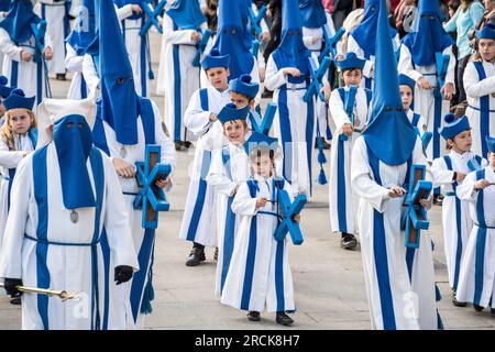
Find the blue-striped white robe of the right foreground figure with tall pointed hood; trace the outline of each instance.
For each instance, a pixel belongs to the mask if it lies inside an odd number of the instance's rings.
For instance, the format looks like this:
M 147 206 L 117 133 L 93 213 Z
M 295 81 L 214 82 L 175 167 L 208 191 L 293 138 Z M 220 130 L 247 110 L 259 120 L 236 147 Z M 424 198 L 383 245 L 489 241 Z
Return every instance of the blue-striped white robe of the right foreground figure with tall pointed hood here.
M 413 164 L 426 163 L 418 138 L 413 151 Z M 404 184 L 407 163 L 389 166 L 378 161 L 378 164 L 383 186 L 375 182 L 366 143 L 364 138 L 359 138 L 352 151 L 351 185 L 361 198 L 359 228 L 372 328 L 437 329 L 430 237 L 427 231 L 421 231 L 419 249 L 414 253 L 410 279 L 405 235 L 400 231 L 404 198 L 393 199 L 388 196 L 388 187 Z M 380 217 L 383 217 L 383 238 L 380 231 L 374 230 L 380 224 L 375 224 L 375 219 Z M 386 265 L 383 265 L 384 261 Z

